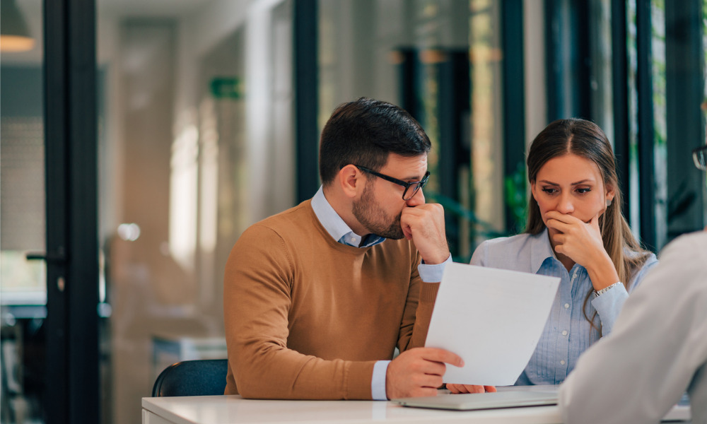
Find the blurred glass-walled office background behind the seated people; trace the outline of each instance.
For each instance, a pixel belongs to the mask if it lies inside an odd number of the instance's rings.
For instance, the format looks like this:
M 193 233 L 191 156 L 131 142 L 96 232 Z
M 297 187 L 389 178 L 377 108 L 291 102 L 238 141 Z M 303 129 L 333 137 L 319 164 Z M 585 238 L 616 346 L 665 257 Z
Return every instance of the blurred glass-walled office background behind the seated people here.
M 631 228 L 707 223 L 707 0 L 1 0 L 2 423 L 136 423 L 225 358 L 223 266 L 319 187 L 340 102 L 406 108 L 457 261 L 522 231 L 525 149 L 609 135 Z

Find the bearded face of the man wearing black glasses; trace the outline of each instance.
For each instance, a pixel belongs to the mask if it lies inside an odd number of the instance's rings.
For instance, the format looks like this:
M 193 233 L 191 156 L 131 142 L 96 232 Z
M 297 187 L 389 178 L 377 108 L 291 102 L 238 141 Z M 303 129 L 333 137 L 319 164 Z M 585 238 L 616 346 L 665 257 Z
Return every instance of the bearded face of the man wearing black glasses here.
M 420 181 L 427 172 L 427 155 L 404 156 L 390 153 L 378 172 L 406 182 Z M 393 240 L 404 237 L 400 226 L 403 208 L 425 203 L 420 189 L 411 199 L 402 199 L 405 188 L 385 179 L 368 175 L 361 197 L 354 200 L 352 213 L 363 227 L 375 235 Z

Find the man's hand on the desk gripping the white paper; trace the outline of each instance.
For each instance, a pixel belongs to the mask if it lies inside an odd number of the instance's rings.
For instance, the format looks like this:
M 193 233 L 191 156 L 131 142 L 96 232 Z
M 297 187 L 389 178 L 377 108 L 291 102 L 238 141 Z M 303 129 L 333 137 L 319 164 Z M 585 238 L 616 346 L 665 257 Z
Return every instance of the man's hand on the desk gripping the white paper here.
M 385 394 L 388 399 L 436 396 L 442 385 L 445 363 L 461 367 L 458 355 L 438 348 L 413 348 L 404 351 L 388 364 Z

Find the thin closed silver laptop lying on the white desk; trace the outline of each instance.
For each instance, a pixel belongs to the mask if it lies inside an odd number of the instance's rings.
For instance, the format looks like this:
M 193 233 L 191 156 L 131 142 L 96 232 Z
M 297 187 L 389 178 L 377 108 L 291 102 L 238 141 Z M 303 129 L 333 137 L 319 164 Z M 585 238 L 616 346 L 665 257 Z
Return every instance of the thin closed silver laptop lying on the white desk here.
M 557 391 L 508 390 L 491 393 L 438 394 L 438 396 L 391 399 L 394 404 L 414 408 L 477 409 L 521 408 L 557 404 Z

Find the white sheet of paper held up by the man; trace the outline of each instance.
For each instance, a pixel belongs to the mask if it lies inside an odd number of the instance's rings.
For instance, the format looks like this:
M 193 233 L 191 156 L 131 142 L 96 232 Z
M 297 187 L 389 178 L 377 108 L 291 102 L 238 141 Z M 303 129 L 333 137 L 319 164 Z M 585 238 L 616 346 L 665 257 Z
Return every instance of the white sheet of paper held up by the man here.
M 508 386 L 542 335 L 560 278 L 451 263 L 432 312 L 426 347 L 460 355 L 443 381 Z

